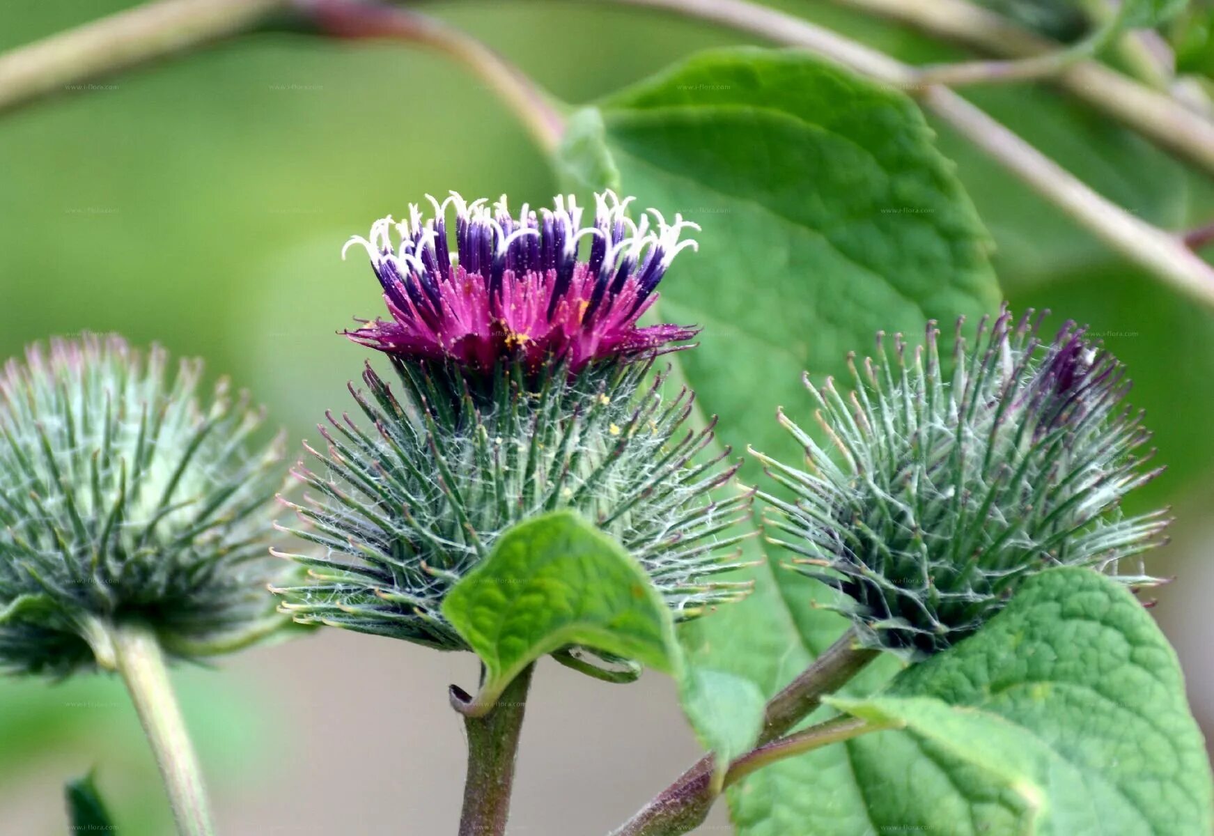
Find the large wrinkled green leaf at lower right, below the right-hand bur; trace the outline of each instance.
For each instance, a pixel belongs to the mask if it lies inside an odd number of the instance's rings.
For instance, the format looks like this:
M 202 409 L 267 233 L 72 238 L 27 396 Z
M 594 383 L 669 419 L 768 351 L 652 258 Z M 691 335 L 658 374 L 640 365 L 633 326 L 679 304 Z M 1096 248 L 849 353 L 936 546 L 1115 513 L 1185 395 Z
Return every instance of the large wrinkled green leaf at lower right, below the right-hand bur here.
M 1214 827 L 1209 761 L 1175 653 L 1141 603 L 1090 570 L 1031 578 L 981 632 L 886 693 L 830 702 L 907 728 L 853 742 L 878 831 Z M 891 745 L 917 755 L 891 762 Z M 915 792 L 889 791 L 908 774 Z

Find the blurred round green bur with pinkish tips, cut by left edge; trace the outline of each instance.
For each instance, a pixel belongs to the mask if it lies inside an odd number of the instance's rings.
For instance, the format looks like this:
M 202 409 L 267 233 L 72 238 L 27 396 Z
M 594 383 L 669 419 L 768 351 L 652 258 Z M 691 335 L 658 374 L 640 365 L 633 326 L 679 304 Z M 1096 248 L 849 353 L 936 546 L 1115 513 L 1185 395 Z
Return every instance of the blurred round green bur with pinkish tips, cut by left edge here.
M 263 532 L 282 444 L 202 365 L 119 337 L 32 346 L 0 374 L 0 667 L 110 665 L 107 627 L 152 626 L 177 656 L 217 653 L 282 618 Z

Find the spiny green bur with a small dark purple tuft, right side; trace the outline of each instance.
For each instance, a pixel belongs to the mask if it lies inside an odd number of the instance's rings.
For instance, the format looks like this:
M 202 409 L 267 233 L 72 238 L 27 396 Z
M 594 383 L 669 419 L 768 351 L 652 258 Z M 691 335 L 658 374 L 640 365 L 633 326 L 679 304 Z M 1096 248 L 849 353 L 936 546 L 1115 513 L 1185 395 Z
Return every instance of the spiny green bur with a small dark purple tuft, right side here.
M 1053 341 L 1042 317 L 983 318 L 972 346 L 958 322 L 946 379 L 934 323 L 926 350 L 852 361 L 853 391 L 806 384 L 826 448 L 781 423 L 809 470 L 759 456 L 790 491 L 760 496 L 794 565 L 841 593 L 836 609 L 870 646 L 921 656 L 981 627 L 1025 577 L 1091 566 L 1131 587 L 1119 561 L 1161 542 L 1163 512 L 1127 518 L 1122 497 L 1151 480 L 1141 413 L 1123 405 L 1123 368 L 1084 329 Z

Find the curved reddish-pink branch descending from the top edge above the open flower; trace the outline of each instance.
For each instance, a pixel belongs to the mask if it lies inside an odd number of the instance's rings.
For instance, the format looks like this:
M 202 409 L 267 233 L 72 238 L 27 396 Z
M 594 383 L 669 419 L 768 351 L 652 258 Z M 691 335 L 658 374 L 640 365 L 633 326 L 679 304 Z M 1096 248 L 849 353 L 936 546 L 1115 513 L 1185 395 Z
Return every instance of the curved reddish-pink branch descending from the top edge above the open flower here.
M 546 95 L 518 68 L 477 39 L 432 17 L 357 0 L 296 0 L 295 7 L 323 34 L 421 44 L 443 52 L 484 81 L 545 151 L 556 149 L 565 122 Z

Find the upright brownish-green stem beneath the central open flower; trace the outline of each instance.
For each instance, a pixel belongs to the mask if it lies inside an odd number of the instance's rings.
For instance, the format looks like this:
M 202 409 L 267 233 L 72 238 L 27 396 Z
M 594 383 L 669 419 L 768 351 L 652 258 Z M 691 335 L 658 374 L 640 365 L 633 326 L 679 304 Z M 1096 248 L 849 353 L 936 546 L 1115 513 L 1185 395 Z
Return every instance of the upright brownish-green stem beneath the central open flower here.
M 510 815 L 510 791 L 523 727 L 531 665 L 503 691 L 493 708 L 481 717 L 464 716 L 467 732 L 467 779 L 459 836 L 501 836 Z M 471 696 L 452 685 L 452 701 L 466 705 Z

